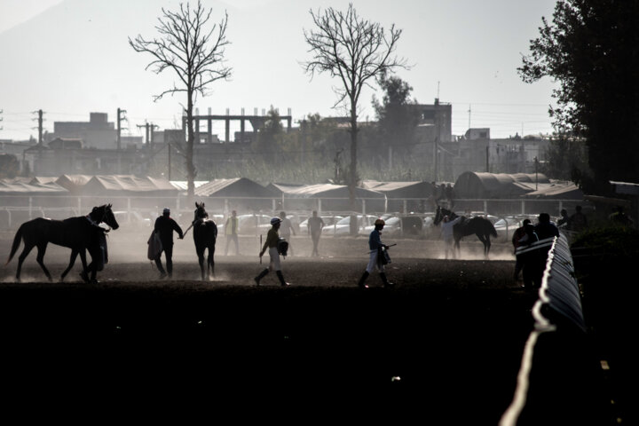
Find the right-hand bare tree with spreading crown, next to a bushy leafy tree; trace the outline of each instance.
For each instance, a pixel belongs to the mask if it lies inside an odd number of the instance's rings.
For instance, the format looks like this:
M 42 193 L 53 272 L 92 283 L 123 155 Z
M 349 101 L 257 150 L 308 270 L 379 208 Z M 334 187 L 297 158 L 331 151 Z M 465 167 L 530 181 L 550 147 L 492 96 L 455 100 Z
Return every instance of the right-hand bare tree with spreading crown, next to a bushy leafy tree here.
M 315 28 L 304 30 L 313 58 L 304 63 L 306 73 L 328 73 L 341 82 L 335 88 L 335 106 L 346 104 L 351 123 L 351 166 L 347 177 L 351 208 L 355 209 L 357 175 L 358 102 L 365 85 L 378 75 L 397 67 L 407 68 L 404 59 L 395 56 L 400 29 L 393 24 L 388 33 L 376 22 L 362 20 L 352 4 L 346 12 L 329 7 L 323 13 L 312 12 Z

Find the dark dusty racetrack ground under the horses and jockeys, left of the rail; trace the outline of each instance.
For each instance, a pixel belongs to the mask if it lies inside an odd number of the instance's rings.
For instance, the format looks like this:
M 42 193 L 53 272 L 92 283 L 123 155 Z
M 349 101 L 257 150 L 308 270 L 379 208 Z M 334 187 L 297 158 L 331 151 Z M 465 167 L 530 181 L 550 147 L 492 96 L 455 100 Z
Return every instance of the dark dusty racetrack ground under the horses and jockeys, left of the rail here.
M 497 424 L 513 397 L 536 295 L 511 279 L 507 244 L 485 260 L 478 242 L 464 241 L 460 260 L 444 260 L 440 241 L 384 241 L 398 242 L 388 269 L 397 288 L 381 288 L 373 274 L 361 291 L 364 239 L 325 238 L 318 259 L 296 237 L 282 263 L 291 287 L 270 274 L 256 288 L 265 266 L 258 237 L 241 238 L 242 256 L 224 256 L 220 239 L 215 279 L 201 282 L 188 235 L 176 242 L 173 280 L 159 281 L 146 231 L 111 233 L 95 286 L 76 279 L 79 263 L 67 283 L 43 282 L 35 252 L 20 283 L 16 259 L 0 269 L 3 378 L 13 398 L 49 400 L 64 385 L 71 391 L 60 400 L 103 411 L 144 411 L 144 401 L 157 414 L 179 399 L 217 413 L 268 401 L 258 410 L 264 420 L 391 411 L 396 423 Z M 3 234 L 0 258 L 11 239 Z M 54 276 L 68 253 L 50 246 Z

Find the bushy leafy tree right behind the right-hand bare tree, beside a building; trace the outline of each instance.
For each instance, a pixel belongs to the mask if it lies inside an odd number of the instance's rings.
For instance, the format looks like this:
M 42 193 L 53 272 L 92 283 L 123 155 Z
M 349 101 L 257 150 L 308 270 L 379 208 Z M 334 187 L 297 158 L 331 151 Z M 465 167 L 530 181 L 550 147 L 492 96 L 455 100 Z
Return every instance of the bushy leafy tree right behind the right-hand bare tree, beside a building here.
M 390 145 L 395 154 L 410 153 L 419 123 L 419 111 L 414 107 L 417 101 L 410 97 L 413 88 L 398 76 L 386 73 L 381 75 L 379 83 L 384 94 L 382 102 L 373 97 L 379 127 L 376 145 Z

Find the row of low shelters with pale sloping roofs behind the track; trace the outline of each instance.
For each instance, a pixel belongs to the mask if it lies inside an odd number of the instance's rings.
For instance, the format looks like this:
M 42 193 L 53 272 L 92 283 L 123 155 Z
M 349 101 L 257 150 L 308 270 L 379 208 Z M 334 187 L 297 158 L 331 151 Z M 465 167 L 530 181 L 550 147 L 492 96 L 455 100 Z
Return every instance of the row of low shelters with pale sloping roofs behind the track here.
M 347 212 L 351 193 L 346 185 L 260 184 L 246 177 L 195 182 L 194 201 L 205 201 L 209 212 L 277 213 L 284 210 Z M 407 214 L 434 211 L 438 203 L 436 186 L 441 182 L 380 182 L 365 180 L 355 188 L 355 211 Z M 456 181 L 453 207 L 456 210 L 491 214 L 531 213 L 540 210 L 558 214 L 560 208 L 580 204 L 584 194 L 572 183 L 556 182 L 542 174 L 491 174 L 464 172 Z M 193 200 L 192 200 L 193 201 Z M 61 175 L 59 177 L 17 177 L 0 180 L 0 223 L 28 217 L 63 218 L 85 214 L 92 206 L 112 203 L 116 210 L 157 214 L 168 206 L 191 211 L 186 183 L 164 178 L 134 175 Z M 535 202 L 545 203 L 535 206 Z M 552 207 L 548 206 L 552 203 Z M 529 211 L 523 211 L 529 210 Z M 556 210 L 556 211 L 555 211 Z M 4 217 L 3 217 L 4 216 Z M 7 217 L 9 216 L 9 217 Z M 4 218 L 4 220 L 2 220 Z

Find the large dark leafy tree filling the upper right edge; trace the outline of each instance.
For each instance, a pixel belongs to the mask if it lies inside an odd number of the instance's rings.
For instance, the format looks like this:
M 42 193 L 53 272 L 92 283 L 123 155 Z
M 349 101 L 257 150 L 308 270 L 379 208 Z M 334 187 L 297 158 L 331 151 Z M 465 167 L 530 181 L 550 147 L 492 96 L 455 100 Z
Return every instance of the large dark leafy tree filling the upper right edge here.
M 592 177 L 577 183 L 607 193 L 609 180 L 639 182 L 639 2 L 564 0 L 518 71 L 526 83 L 544 76 L 559 87 L 550 108 L 556 129 L 585 138 Z

